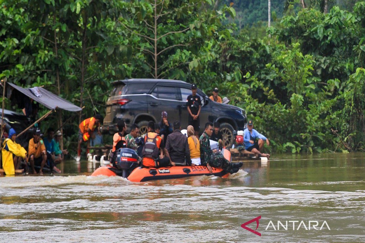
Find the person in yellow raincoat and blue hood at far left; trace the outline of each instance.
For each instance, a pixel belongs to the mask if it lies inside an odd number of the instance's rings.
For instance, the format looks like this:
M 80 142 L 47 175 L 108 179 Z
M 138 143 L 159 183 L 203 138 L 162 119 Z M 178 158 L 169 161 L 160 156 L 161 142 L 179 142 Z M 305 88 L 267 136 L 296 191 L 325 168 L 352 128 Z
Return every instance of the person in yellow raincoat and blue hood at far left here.
M 15 169 L 18 169 L 21 158 L 26 158 L 27 151 L 15 142 L 16 132 L 14 129 L 9 130 L 9 136 L 3 143 L 1 150 L 3 158 L 3 169 L 6 175 L 15 175 Z M 15 155 L 13 160 L 13 154 Z

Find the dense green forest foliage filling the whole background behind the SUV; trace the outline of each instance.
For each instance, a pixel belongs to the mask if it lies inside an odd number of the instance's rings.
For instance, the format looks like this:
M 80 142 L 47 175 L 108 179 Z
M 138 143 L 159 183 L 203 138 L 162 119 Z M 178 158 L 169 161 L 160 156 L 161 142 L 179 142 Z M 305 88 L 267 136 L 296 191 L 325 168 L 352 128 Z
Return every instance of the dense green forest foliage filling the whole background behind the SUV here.
M 273 151 L 365 148 L 365 2 L 343 10 L 329 1 L 323 13 L 320 1 L 305 9 L 289 1 L 268 32 L 235 24 L 238 7 L 254 3 L 267 18 L 267 1 L 0 3 L 0 77 L 45 85 L 85 106 L 82 117 L 104 113 L 113 80 L 172 78 L 207 93 L 218 86 L 270 138 Z M 279 12 L 285 3 L 272 0 L 282 4 Z M 76 141 L 81 119 L 72 115 L 63 119 L 68 141 Z

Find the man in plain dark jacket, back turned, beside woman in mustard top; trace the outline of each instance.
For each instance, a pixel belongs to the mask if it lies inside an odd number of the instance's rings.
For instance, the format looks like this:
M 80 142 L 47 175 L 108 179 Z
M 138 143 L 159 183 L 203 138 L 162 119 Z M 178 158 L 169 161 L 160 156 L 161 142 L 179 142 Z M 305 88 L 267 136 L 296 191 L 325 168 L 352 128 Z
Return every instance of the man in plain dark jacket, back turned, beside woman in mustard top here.
M 166 149 L 176 165 L 191 165 L 188 138 L 180 130 L 180 122 L 175 121 L 173 133 L 167 136 Z

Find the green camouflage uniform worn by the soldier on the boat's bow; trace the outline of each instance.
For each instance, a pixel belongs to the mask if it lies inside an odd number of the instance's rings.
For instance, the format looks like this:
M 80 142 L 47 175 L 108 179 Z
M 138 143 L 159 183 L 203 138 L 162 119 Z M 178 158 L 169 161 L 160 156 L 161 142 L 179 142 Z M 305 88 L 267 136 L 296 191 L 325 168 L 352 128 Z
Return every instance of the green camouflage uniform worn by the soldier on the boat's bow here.
M 200 162 L 201 165 L 207 165 L 209 163 L 210 166 L 219 168 L 221 167 L 225 171 L 229 173 L 234 173 L 232 170 L 232 164 L 226 158 L 224 158 L 221 152 L 213 153 L 210 149 L 209 136 L 206 132 L 204 132 L 200 138 Z

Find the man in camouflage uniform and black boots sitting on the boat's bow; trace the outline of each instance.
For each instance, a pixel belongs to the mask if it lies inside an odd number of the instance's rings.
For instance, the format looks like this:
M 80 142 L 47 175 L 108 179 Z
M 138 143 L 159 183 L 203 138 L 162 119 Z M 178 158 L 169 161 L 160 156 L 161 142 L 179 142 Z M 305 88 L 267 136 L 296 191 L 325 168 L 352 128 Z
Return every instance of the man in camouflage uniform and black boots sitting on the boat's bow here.
M 230 161 L 224 158 L 223 154 L 220 151 L 212 151 L 210 149 L 210 141 L 209 138 L 213 133 L 213 124 L 211 122 L 207 122 L 205 124 L 204 133 L 200 136 L 200 161 L 201 165 L 207 166 L 210 173 L 212 173 L 212 167 L 219 168 L 221 167 L 225 171 L 233 174 L 239 171 L 239 167 L 242 166 L 242 162 L 232 164 Z

